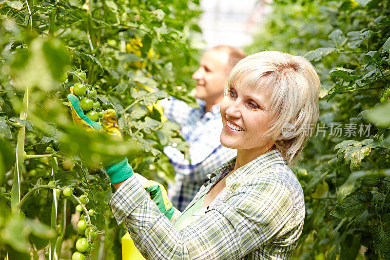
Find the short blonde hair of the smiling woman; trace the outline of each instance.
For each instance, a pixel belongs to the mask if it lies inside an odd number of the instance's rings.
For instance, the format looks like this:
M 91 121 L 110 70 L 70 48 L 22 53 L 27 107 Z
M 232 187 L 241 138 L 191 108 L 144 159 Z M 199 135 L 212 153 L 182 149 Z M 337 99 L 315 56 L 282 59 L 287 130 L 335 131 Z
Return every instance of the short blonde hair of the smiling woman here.
M 314 67 L 301 56 L 259 52 L 233 68 L 225 95 L 237 84 L 267 93 L 270 125 L 266 135 L 291 165 L 299 158 L 319 116 L 320 80 Z M 282 134 L 286 124 L 295 131 Z

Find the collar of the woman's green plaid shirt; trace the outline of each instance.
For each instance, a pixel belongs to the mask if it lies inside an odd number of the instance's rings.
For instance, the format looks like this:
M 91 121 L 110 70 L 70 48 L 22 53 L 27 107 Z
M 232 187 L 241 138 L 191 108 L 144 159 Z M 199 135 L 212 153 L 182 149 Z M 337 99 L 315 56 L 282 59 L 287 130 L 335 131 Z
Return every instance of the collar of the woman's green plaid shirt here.
M 220 167 L 216 168 L 208 177 L 209 179 L 214 178 L 217 176 L 218 179 L 222 179 L 226 176 L 230 171 L 234 169 L 235 164 L 234 157 L 231 160 L 228 160 L 224 164 L 222 164 Z M 279 151 L 279 149 L 273 149 L 269 152 L 266 152 L 260 156 L 258 156 L 256 159 L 248 162 L 247 164 L 241 166 L 237 170 L 235 170 L 228 179 L 237 179 L 242 178 L 245 175 L 249 175 L 250 173 L 255 170 L 256 172 L 259 172 L 265 168 L 268 168 L 272 164 L 275 163 L 282 163 L 287 164 L 287 161 L 283 159 L 282 153 Z

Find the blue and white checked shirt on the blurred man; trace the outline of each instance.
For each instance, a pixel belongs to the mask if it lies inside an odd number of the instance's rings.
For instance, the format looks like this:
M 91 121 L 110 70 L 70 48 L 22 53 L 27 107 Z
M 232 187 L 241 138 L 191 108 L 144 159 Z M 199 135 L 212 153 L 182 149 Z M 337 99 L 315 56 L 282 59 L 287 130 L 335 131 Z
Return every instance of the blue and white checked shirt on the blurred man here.
M 164 115 L 181 125 L 180 134 L 190 144 L 191 163 L 176 148 L 164 147 L 164 153 L 175 169 L 175 184 L 168 186 L 168 197 L 180 211 L 194 199 L 200 186 L 208 180 L 207 175 L 237 154 L 219 140 L 222 131 L 219 104 L 205 113 L 204 101 L 197 102 L 200 108 L 192 108 L 174 98 L 160 101 Z

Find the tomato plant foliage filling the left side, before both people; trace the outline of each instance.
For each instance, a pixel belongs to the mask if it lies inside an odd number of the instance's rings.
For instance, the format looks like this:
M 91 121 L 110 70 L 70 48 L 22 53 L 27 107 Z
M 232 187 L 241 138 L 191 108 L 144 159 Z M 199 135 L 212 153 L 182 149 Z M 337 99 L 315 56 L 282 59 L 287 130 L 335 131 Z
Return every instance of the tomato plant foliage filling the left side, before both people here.
M 127 156 L 145 177 L 173 180 L 162 148 L 178 143 L 187 154 L 188 145 L 157 101 L 171 95 L 197 105 L 189 91 L 200 57 L 199 14 L 198 0 L 0 1 L 1 259 L 71 258 L 75 223 L 85 213 L 75 211 L 74 197 L 42 187 L 50 180 L 72 187 L 96 211 L 99 237 L 89 258 L 121 259 L 125 229 L 97 167 Z M 66 95 L 76 82 L 97 91 L 102 109 L 117 110 L 123 142 L 73 125 Z

